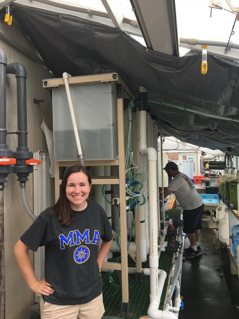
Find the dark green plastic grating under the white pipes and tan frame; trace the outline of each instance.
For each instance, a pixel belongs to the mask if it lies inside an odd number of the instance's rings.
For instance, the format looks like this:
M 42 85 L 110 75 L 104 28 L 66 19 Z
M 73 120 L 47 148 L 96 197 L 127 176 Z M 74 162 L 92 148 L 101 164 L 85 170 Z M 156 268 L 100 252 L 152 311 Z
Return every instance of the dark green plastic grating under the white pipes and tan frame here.
M 167 215 L 169 218 L 180 218 L 181 210 L 180 209 L 171 209 L 167 210 Z M 166 235 L 165 240 L 170 241 L 172 235 Z M 117 255 L 115 255 L 117 256 Z M 114 256 L 114 257 L 115 257 Z M 167 278 L 165 280 L 163 291 L 161 295 L 161 302 L 159 305 L 159 309 L 163 310 L 163 306 L 166 299 L 167 287 L 169 285 L 169 274 L 171 270 L 173 255 L 171 253 L 161 252 L 159 258 L 159 269 L 166 271 Z M 128 267 L 135 267 L 135 263 L 132 258 L 128 257 Z M 142 264 L 142 268 L 149 268 L 148 263 Z M 117 276 L 114 276 L 116 279 L 116 283 L 120 285 L 119 279 Z M 134 275 L 128 275 L 129 278 L 134 279 Z M 103 301 L 105 306 L 105 316 L 117 316 L 123 319 L 139 319 L 142 315 L 147 315 L 147 310 L 149 306 L 149 293 L 150 293 L 150 278 L 146 277 L 145 283 L 136 283 L 134 282 L 134 286 L 129 290 L 129 300 L 134 306 L 134 315 L 133 317 L 120 316 L 117 315 L 117 308 L 119 307 L 122 300 L 122 292 L 121 288 L 116 292 L 115 288 L 112 287 L 109 282 L 109 278 L 106 273 L 102 273 L 103 278 Z

